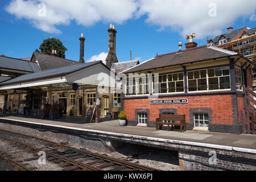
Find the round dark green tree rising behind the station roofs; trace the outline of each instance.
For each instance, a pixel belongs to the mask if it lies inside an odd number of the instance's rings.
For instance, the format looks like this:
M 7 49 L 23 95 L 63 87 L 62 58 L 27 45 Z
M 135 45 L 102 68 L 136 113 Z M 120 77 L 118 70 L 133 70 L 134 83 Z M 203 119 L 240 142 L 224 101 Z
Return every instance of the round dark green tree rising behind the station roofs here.
M 63 43 L 60 41 L 60 39 L 56 38 L 48 38 L 43 40 L 43 43 L 39 47 L 41 50 L 41 53 L 44 53 L 46 55 L 51 55 L 52 50 L 57 51 L 57 56 L 65 58 L 65 51 L 68 51 L 67 48 L 63 46 Z

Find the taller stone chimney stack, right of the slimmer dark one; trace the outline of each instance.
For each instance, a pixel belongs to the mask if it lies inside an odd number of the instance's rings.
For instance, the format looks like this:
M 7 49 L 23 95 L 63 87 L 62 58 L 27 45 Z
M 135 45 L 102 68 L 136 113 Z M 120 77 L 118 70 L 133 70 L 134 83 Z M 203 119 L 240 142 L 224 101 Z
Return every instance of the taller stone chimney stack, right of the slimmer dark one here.
M 109 32 L 109 53 L 106 57 L 106 65 L 111 68 L 114 63 L 118 63 L 117 55 L 115 54 L 115 41 L 117 30 L 115 26 L 110 24 Z

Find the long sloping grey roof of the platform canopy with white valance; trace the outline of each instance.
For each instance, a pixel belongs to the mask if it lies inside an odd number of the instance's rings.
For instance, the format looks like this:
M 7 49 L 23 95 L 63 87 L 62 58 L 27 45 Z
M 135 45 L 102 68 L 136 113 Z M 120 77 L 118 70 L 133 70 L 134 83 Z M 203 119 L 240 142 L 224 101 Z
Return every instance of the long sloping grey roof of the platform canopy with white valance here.
M 15 82 L 23 82 L 23 81 L 29 81 L 29 80 L 40 80 L 43 78 L 67 75 L 68 73 L 79 71 L 80 69 L 84 69 L 84 68 L 90 67 L 92 65 L 98 64 L 98 63 L 102 63 L 102 61 L 93 61 L 90 63 L 76 64 L 76 65 L 71 65 L 68 67 L 48 69 L 46 71 L 40 71 L 40 72 L 35 72 L 35 73 L 27 74 L 27 75 L 22 75 L 22 76 L 13 78 L 9 81 L 2 82 L 0 85 L 8 85 L 8 84 L 12 84 Z

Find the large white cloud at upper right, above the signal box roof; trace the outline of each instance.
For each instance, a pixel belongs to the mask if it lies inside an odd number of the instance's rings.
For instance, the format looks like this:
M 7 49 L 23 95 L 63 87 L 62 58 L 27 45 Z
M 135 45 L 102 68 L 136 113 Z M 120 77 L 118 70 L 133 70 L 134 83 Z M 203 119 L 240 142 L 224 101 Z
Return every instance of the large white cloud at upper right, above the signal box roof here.
M 184 38 L 191 33 L 196 33 L 196 38 L 204 38 L 212 35 L 212 31 L 214 35 L 221 34 L 221 30 L 232 26 L 238 17 L 254 14 L 256 1 L 139 0 L 139 7 L 139 15 L 146 14 L 146 22 L 159 26 L 159 30 L 170 27 Z

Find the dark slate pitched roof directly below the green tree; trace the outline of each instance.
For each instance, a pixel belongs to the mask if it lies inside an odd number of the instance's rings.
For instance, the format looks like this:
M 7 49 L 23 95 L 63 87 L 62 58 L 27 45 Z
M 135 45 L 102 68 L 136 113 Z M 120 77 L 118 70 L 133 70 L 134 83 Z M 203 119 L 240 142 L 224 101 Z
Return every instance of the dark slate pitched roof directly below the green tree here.
M 34 52 L 33 55 L 36 57 L 36 61 L 38 61 L 38 64 L 42 71 L 79 64 L 77 61 L 64 59 L 54 55 L 46 55 L 39 52 Z

